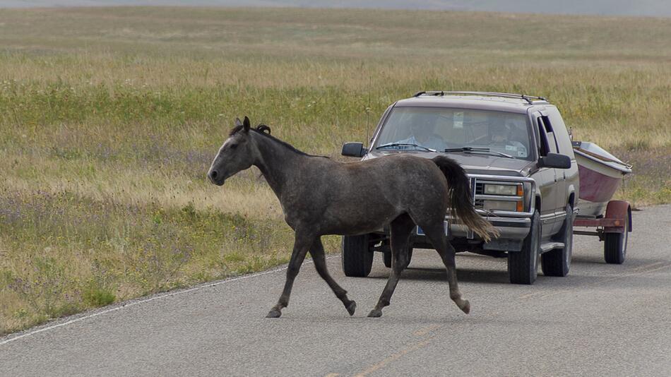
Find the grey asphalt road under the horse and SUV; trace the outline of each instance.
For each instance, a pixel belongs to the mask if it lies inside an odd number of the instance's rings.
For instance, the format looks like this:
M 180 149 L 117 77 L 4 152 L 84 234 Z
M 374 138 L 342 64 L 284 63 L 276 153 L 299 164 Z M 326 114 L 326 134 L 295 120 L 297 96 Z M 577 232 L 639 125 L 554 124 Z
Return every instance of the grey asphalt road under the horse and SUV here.
M 0 339 L 2 376 L 670 376 L 671 206 L 634 213 L 624 265 L 576 236 L 568 277 L 507 283 L 506 262 L 461 254 L 472 311 L 449 300 L 434 251 L 415 251 L 382 318 L 388 270 L 346 278 L 354 317 L 306 263 L 282 318 L 283 269 L 49 323 Z

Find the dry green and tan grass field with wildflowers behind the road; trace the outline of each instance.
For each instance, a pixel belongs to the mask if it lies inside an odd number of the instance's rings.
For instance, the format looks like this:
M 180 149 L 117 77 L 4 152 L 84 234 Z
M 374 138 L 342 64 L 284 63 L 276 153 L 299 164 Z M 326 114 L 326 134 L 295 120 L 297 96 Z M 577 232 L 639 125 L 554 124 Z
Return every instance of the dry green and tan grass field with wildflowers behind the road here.
M 417 90 L 545 95 L 634 164 L 619 197 L 668 203 L 670 40 L 663 18 L 0 9 L 0 334 L 285 263 L 258 170 L 205 180 L 236 116 L 340 158 Z

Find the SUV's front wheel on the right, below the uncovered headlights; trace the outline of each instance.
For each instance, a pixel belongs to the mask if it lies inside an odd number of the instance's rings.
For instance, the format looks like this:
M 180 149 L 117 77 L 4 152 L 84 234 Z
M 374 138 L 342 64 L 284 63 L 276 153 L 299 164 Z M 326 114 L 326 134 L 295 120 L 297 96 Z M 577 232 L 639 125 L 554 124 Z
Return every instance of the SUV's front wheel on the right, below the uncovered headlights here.
M 535 210 L 531 217 L 529 234 L 521 251 L 508 252 L 508 275 L 513 284 L 533 284 L 538 276 L 538 251 L 540 250 L 540 214 Z

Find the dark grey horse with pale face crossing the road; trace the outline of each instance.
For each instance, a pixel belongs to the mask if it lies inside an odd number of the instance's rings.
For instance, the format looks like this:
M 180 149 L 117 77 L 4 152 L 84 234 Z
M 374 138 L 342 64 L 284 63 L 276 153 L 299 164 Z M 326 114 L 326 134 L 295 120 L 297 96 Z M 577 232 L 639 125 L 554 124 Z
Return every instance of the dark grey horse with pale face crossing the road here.
M 489 239 L 494 229 L 473 210 L 468 177 L 459 164 L 444 156 L 428 160 L 410 154 L 336 162 L 307 155 L 274 138 L 268 126 L 251 128 L 247 116 L 244 121 L 236 119 L 235 124 L 219 148 L 208 178 L 222 186 L 237 172 L 251 165 L 258 167 L 295 232 L 284 290 L 268 318 L 281 316 L 289 304 L 294 279 L 308 251 L 317 273 L 353 315 L 357 304 L 326 270 L 321 236 L 365 234 L 385 226 L 391 229 L 391 275 L 368 316 L 381 316 L 382 308 L 389 305 L 400 273 L 408 264 L 408 239 L 415 225 L 422 227 L 447 268 L 450 298 L 464 313 L 470 311 L 457 285 L 455 251 L 445 237 L 448 205 L 480 237 Z

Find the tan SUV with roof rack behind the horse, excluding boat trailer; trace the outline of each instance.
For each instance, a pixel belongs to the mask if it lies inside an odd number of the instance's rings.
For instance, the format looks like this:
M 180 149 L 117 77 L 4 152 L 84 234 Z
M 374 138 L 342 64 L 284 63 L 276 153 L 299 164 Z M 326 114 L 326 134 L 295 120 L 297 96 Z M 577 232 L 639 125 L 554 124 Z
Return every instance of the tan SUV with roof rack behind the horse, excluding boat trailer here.
M 578 167 L 559 110 L 542 97 L 494 92 L 418 92 L 392 104 L 370 140 L 345 143 L 363 160 L 413 153 L 449 155 L 470 176 L 473 205 L 501 236 L 485 242 L 448 213 L 446 234 L 457 251 L 508 258 L 510 281 L 533 284 L 566 276 L 571 263 Z M 343 270 L 367 276 L 373 252 L 391 265 L 388 229 L 343 237 Z M 422 229 L 412 248 L 431 248 Z

